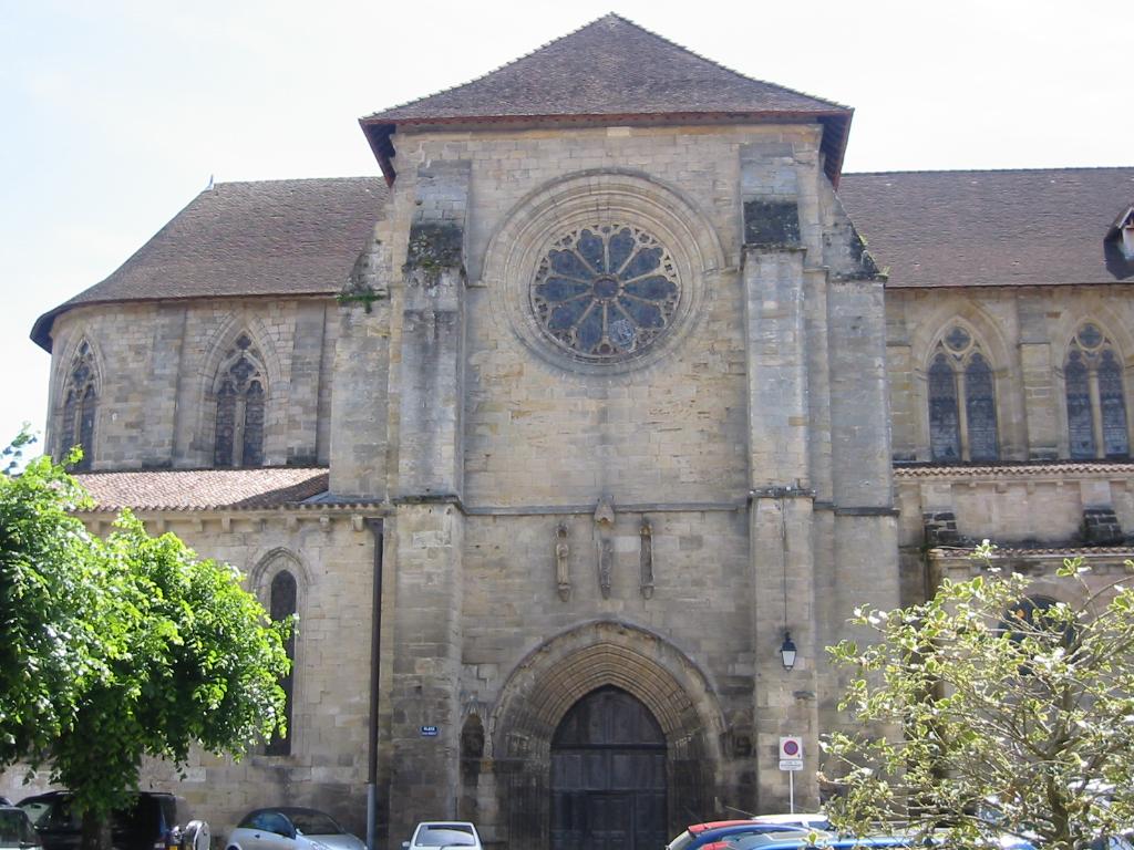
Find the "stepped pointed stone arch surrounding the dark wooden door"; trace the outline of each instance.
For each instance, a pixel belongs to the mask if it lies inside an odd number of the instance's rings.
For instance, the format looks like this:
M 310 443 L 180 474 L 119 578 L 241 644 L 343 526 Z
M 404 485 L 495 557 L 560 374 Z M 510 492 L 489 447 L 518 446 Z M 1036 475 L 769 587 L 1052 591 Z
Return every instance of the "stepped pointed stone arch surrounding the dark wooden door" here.
M 552 742 L 576 704 L 608 687 L 641 704 L 666 741 L 661 832 L 671 835 L 714 810 L 725 720 L 704 673 L 659 635 L 591 622 L 528 654 L 490 717 L 485 755 L 493 765 L 498 831 L 509 850 L 552 845 Z

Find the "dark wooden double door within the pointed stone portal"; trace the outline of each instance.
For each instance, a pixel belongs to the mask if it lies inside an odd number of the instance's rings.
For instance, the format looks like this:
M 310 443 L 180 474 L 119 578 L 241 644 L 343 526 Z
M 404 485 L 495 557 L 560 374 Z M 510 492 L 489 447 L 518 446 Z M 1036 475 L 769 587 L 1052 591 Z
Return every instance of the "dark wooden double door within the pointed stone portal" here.
M 592 691 L 551 742 L 551 850 L 655 850 L 666 841 L 666 736 L 626 691 Z

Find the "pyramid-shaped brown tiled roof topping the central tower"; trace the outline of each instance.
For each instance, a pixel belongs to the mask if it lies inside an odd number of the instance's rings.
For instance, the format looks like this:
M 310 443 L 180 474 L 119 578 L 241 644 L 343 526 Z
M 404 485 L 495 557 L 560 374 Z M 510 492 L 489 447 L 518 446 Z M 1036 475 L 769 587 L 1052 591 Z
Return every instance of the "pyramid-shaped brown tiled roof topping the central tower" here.
M 359 119 L 392 181 L 398 126 L 553 119 L 818 120 L 838 181 L 853 110 L 738 74 L 607 15 L 483 77 Z

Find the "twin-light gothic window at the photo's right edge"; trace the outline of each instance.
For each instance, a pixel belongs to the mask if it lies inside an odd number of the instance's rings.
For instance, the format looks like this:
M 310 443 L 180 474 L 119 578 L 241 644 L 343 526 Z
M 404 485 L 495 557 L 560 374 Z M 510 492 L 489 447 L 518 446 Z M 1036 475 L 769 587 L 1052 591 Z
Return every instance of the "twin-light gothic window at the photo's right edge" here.
M 1064 390 L 1067 443 L 1073 458 L 1129 454 L 1123 365 L 1098 325 L 1084 324 L 1067 347 Z

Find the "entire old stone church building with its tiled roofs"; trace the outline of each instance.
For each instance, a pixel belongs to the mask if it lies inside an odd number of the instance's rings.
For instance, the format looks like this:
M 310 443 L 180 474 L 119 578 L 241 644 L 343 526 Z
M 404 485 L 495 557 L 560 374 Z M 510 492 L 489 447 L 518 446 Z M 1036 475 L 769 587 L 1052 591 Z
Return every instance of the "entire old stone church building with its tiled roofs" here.
M 658 847 L 785 808 L 788 734 L 814 807 L 855 606 L 968 538 L 1122 569 L 1134 169 L 843 175 L 850 117 L 608 16 L 41 317 L 91 527 L 299 614 L 289 738 L 178 784 L 215 828 Z

